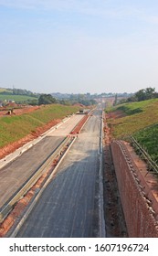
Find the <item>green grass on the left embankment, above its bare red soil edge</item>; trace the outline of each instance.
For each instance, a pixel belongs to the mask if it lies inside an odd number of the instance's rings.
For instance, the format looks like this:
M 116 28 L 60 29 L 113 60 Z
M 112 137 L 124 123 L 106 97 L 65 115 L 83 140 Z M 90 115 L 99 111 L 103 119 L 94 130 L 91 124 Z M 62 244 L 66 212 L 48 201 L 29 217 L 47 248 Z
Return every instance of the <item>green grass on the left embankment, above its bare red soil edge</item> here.
M 0 148 L 14 143 L 47 123 L 78 112 L 79 107 L 58 104 L 41 106 L 35 112 L 0 117 Z

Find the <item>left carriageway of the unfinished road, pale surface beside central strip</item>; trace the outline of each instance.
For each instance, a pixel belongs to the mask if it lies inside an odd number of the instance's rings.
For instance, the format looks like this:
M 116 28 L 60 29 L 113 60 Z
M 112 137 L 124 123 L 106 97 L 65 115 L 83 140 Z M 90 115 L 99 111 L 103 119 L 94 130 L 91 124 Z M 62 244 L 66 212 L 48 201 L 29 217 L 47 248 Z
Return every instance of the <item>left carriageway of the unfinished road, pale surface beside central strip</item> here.
M 0 169 L 0 208 L 36 172 L 38 166 L 47 159 L 47 155 L 55 151 L 82 117 L 83 115 L 72 116 L 67 123 L 62 123 L 53 132 L 50 130 L 39 143 Z

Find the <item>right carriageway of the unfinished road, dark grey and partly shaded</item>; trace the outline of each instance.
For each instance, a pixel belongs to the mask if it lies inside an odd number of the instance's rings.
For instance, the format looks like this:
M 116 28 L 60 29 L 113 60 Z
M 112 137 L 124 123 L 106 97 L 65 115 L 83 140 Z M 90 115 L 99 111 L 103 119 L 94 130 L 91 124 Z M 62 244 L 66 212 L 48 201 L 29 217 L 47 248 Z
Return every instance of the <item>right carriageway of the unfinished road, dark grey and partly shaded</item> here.
M 94 112 L 17 237 L 97 237 L 100 115 Z

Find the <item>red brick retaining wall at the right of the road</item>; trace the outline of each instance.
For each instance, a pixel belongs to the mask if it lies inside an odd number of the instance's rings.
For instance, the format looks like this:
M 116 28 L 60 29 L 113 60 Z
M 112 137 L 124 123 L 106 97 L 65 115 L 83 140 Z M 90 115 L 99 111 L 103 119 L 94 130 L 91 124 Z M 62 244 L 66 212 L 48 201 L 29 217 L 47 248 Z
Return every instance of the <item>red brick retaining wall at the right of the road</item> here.
M 111 152 L 129 237 L 158 237 L 154 209 L 137 179 L 137 166 L 122 142 L 113 142 Z

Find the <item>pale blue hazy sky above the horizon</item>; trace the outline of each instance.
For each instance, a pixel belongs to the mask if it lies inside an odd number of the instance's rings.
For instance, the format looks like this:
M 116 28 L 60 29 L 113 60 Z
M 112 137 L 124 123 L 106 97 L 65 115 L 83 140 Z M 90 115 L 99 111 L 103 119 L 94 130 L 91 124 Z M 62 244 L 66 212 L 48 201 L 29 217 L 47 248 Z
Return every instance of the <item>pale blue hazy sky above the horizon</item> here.
M 0 0 L 0 87 L 158 91 L 157 0 Z

